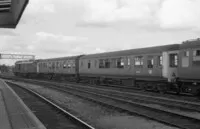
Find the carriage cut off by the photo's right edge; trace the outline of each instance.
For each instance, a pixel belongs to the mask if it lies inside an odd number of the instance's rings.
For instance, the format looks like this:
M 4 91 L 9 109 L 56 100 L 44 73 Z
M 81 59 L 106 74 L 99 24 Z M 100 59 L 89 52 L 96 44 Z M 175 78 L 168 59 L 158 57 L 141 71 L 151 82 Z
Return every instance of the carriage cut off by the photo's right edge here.
M 200 39 L 180 45 L 178 77 L 182 92 L 200 93 Z

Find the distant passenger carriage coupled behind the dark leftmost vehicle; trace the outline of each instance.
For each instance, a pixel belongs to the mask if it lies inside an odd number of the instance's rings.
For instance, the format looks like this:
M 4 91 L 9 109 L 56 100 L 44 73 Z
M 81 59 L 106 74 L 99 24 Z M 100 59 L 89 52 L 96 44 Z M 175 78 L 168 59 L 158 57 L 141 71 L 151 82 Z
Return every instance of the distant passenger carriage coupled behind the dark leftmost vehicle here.
M 76 80 L 79 56 L 43 59 L 38 62 L 38 74 L 41 78 Z

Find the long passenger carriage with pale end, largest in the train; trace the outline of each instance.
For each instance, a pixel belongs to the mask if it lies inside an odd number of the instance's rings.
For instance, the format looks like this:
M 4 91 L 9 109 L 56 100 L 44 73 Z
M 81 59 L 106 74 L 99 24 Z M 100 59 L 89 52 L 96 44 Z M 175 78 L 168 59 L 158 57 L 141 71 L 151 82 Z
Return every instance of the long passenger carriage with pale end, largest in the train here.
M 82 56 L 80 79 L 146 88 L 148 81 L 158 88 L 153 82 L 171 82 L 177 75 L 178 50 L 179 44 L 173 44 Z

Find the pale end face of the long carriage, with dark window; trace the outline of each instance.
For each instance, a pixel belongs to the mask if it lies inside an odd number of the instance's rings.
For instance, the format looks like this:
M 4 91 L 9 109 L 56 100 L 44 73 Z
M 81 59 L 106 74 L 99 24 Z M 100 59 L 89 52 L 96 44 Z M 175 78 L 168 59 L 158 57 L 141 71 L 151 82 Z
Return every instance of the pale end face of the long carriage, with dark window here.
M 178 51 L 163 52 L 163 69 L 162 75 L 167 78 L 169 82 L 177 75 L 178 67 Z

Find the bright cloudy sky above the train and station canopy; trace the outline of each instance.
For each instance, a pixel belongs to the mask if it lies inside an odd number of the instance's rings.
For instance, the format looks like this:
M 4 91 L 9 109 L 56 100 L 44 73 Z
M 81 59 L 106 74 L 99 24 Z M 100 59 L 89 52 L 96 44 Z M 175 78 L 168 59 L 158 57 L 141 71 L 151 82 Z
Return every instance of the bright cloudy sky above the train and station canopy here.
M 17 28 L 0 29 L 0 52 L 44 59 L 181 43 L 200 37 L 199 7 L 200 0 L 29 0 Z

